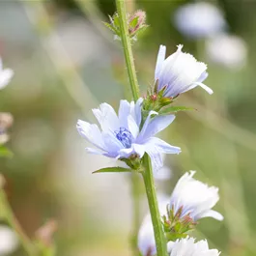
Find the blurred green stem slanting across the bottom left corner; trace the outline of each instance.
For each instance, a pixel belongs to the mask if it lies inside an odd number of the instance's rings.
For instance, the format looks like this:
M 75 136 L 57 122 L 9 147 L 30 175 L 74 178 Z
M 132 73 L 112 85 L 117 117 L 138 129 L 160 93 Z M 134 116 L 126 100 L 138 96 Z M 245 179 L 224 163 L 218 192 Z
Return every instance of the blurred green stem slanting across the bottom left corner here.
M 7 200 L 6 194 L 3 190 L 0 190 L 0 202 L 1 202 L 1 206 L 3 206 L 3 209 L 1 209 L 1 211 L 3 211 L 5 219 L 7 223 L 14 229 L 14 232 L 16 233 L 24 250 L 27 252 L 29 256 L 35 256 L 33 243 L 30 242 L 29 238 L 23 232 L 20 224 L 16 220 L 14 213 L 11 209 L 11 206 Z

